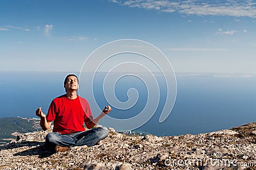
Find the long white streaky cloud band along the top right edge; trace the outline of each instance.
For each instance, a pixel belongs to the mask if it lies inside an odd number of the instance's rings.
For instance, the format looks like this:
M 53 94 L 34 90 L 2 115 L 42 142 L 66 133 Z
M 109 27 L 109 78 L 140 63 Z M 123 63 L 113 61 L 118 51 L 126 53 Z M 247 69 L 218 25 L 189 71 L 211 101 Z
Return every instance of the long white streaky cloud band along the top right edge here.
M 202 1 L 186 0 L 173 2 L 171 0 L 135 0 L 135 1 L 117 1 L 113 3 L 129 6 L 131 8 L 154 9 L 164 12 L 179 12 L 186 15 L 225 15 L 234 17 L 252 17 L 256 18 L 256 3 L 252 1 Z

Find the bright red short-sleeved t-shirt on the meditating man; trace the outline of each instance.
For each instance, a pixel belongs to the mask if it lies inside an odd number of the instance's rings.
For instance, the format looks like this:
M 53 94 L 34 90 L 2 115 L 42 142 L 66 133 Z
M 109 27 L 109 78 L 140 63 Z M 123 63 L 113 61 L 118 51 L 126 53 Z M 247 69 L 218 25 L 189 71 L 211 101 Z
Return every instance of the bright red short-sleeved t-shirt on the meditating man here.
M 56 97 L 48 110 L 46 119 L 54 121 L 52 132 L 61 134 L 73 134 L 85 131 L 84 122 L 93 120 L 92 111 L 88 101 L 77 96 L 76 99 L 68 99 L 66 95 Z

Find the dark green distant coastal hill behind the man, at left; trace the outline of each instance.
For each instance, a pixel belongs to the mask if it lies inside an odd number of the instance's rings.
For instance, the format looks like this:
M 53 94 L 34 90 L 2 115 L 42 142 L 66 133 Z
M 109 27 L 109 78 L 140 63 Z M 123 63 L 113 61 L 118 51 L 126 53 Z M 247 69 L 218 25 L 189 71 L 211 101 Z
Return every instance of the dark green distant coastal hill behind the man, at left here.
M 34 132 L 40 129 L 40 120 L 36 118 L 6 117 L 0 118 L 0 144 L 15 138 L 13 132 Z

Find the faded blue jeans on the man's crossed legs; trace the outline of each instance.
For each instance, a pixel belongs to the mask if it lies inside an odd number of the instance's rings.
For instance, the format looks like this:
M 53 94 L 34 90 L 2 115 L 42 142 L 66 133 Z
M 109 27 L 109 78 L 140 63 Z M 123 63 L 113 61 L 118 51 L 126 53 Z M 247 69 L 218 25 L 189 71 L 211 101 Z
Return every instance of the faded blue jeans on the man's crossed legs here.
M 108 136 L 108 129 L 106 127 L 96 127 L 83 132 L 76 132 L 74 134 L 60 134 L 59 132 L 51 132 L 45 137 L 45 143 L 49 146 L 93 146 L 101 139 Z

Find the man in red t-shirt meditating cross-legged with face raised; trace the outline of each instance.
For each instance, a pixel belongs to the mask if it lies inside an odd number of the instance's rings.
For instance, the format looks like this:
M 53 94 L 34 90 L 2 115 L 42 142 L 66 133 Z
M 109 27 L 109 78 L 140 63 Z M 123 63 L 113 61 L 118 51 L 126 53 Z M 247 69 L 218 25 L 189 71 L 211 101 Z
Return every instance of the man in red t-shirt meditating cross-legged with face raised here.
M 36 116 L 41 118 L 40 125 L 44 131 L 54 122 L 53 131 L 45 137 L 46 145 L 53 147 L 54 152 L 65 152 L 72 146 L 93 146 L 108 136 L 106 127 L 93 127 L 111 111 L 111 107 L 106 106 L 99 117 L 93 120 L 88 102 L 77 95 L 78 87 L 77 76 L 68 74 L 64 80 L 66 94 L 52 100 L 47 116 L 41 108 L 36 110 Z

